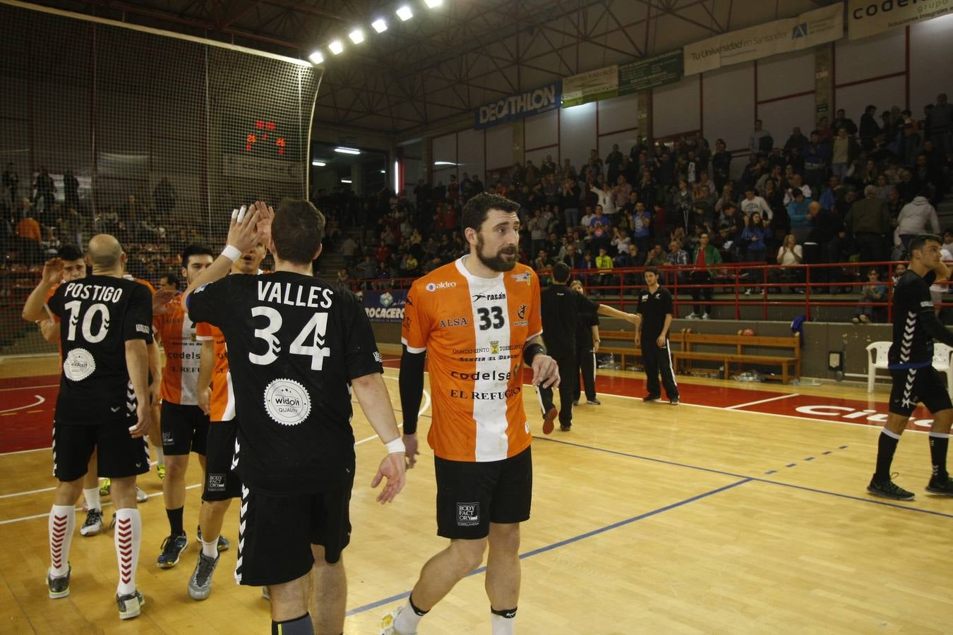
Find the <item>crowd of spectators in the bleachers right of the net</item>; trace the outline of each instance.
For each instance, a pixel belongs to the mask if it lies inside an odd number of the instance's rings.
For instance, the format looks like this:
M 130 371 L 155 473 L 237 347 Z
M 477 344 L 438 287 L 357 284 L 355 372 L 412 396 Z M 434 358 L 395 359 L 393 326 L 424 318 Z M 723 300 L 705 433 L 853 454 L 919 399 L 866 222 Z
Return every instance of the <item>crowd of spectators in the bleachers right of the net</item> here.
M 696 134 L 605 157 L 592 150 L 581 166 L 547 156 L 486 182 L 467 172 L 446 184 L 421 179 L 413 196 L 384 191 L 364 203 L 355 225 L 367 230 L 341 244 L 347 269 L 338 278 L 414 277 L 450 262 L 467 250 L 459 210 L 483 190 L 520 204 L 520 261 L 544 278 L 559 261 L 598 271 L 602 283 L 618 282 L 615 268 L 693 265 L 708 251 L 703 235 L 722 262 L 900 259 L 905 237 L 940 230 L 934 205 L 949 185 L 951 111 L 941 94 L 922 118 L 899 108 L 877 117 L 869 106 L 859 125 L 839 110 L 806 135 L 777 136 L 758 121 L 741 153 Z M 818 282 L 838 275 L 819 269 Z

